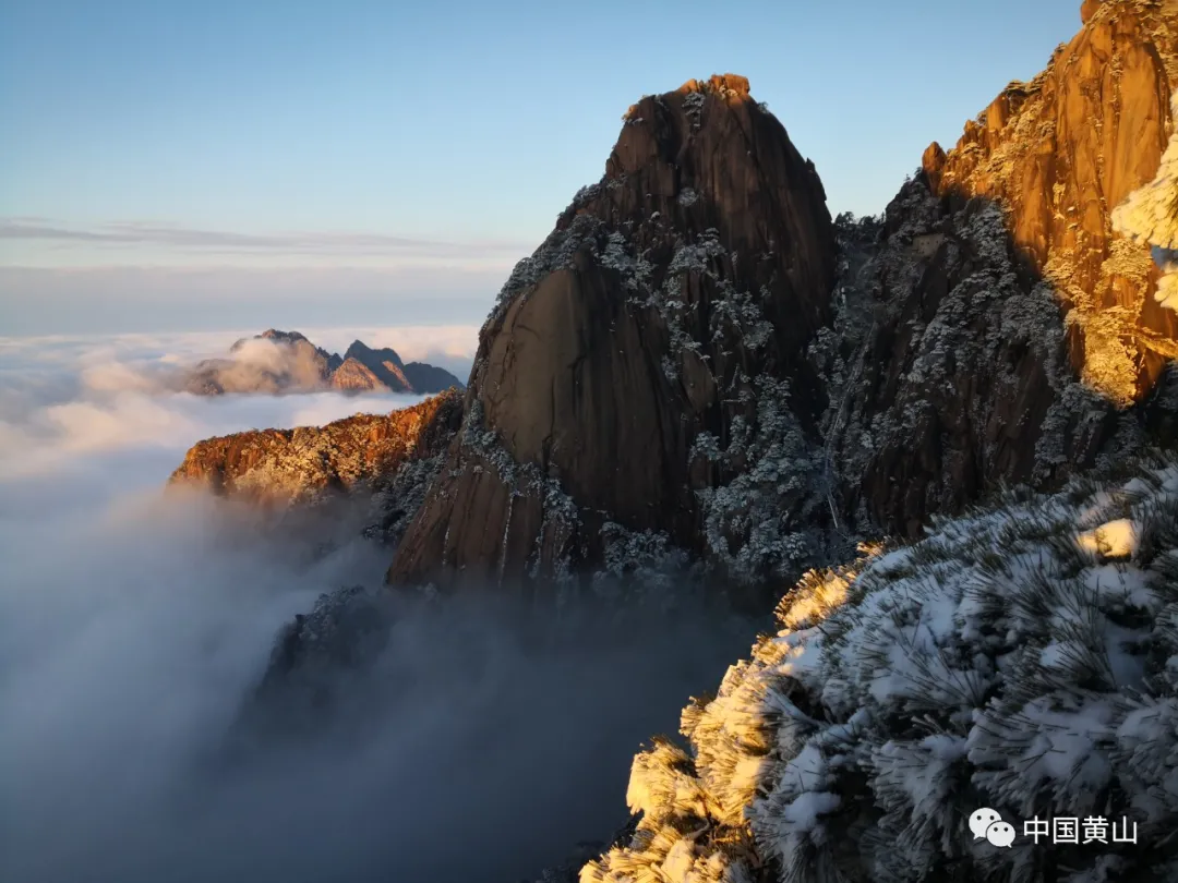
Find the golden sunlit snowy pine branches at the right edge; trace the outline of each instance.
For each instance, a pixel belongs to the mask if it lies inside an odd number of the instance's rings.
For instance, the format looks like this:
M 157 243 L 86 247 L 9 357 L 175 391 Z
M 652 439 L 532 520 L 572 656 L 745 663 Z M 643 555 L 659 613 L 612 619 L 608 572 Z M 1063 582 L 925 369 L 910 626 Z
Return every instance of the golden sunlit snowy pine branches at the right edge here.
M 1178 92 L 1170 109 L 1171 119 L 1178 121 Z M 1121 235 L 1152 247 L 1153 260 L 1163 272 L 1158 303 L 1178 311 L 1178 125 L 1154 179 L 1113 211 L 1112 223 Z

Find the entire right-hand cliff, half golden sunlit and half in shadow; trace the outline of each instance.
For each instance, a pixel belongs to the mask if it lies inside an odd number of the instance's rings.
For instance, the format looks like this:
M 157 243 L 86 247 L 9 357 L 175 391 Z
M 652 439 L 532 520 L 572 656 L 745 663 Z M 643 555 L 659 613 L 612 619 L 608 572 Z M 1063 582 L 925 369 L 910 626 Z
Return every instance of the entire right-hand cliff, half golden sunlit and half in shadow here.
M 933 513 L 1058 485 L 1170 421 L 1178 325 L 1149 248 L 1111 214 L 1173 131 L 1176 47 L 1178 4 L 1087 8 L 1043 74 L 948 154 L 929 147 L 874 241 L 845 231 L 867 259 L 846 261 L 815 358 L 832 493 L 860 529 L 916 537 Z

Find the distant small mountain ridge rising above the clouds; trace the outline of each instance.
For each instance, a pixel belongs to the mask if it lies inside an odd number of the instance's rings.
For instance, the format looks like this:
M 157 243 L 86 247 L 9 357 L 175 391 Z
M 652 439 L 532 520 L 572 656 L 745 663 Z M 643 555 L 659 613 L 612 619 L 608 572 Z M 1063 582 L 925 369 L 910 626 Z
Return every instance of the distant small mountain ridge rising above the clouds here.
M 297 331 L 277 328 L 241 338 L 230 347 L 230 358 L 199 363 L 181 386 L 198 396 L 322 390 L 434 394 L 463 389 L 462 381 L 445 369 L 405 363 L 389 347 L 373 350 L 355 340 L 340 357 Z

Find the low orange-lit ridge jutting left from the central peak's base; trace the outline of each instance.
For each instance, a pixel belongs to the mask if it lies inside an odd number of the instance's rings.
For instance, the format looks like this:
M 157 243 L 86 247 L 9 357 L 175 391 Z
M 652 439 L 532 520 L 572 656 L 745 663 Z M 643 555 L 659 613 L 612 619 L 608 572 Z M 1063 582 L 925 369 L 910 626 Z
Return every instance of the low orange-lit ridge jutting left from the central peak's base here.
M 170 483 L 267 507 L 340 496 L 376 500 L 377 536 L 397 539 L 434 479 L 462 416 L 457 392 L 389 414 L 358 414 L 323 427 L 240 432 L 200 442 Z

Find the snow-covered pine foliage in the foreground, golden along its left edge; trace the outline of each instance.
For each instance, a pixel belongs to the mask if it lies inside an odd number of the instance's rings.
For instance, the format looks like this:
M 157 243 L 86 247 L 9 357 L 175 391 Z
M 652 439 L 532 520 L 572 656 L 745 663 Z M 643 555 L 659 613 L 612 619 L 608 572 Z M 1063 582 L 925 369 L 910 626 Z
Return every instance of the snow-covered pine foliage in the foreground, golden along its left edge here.
M 581 883 L 1178 879 L 1178 465 L 863 552 L 635 758 L 637 831 Z M 1136 843 L 1024 835 L 1090 816 Z

